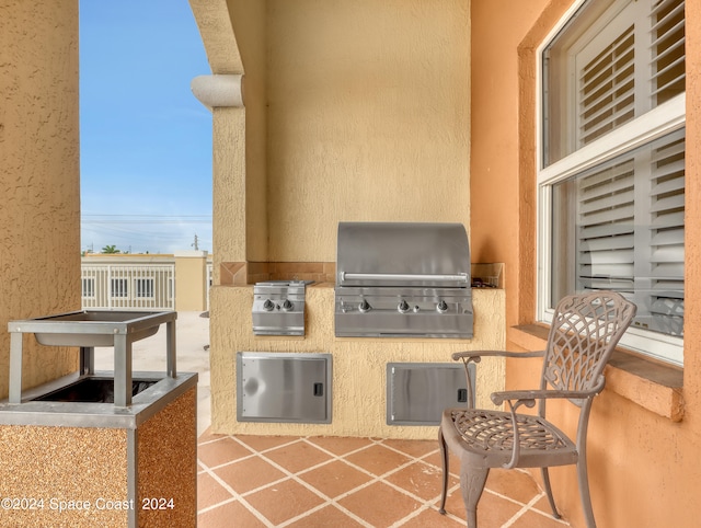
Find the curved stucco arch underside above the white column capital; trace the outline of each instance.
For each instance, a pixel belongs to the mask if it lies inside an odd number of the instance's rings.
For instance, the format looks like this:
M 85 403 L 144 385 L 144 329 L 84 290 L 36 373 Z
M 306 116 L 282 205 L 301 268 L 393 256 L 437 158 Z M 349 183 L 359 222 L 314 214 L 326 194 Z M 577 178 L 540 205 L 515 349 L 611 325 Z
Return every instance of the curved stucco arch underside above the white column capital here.
M 189 0 L 209 68 L 215 74 L 243 74 L 243 61 L 231 25 L 227 0 Z

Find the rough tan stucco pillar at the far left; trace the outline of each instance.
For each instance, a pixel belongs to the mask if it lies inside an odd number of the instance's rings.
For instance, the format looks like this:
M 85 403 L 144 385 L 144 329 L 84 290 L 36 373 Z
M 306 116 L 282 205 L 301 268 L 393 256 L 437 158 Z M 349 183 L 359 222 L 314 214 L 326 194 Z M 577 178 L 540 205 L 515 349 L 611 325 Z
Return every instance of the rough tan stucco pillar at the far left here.
M 11 320 L 80 309 L 78 0 L 0 5 L 0 398 Z M 27 337 L 24 387 L 78 369 Z

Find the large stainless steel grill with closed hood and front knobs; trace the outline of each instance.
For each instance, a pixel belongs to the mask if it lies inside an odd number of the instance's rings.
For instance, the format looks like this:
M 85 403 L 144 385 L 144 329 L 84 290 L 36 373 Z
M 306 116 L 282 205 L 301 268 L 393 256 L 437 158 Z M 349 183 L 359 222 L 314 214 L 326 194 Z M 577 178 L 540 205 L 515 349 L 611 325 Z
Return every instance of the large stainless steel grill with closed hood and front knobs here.
M 462 225 L 338 225 L 336 336 L 470 338 L 472 328 Z

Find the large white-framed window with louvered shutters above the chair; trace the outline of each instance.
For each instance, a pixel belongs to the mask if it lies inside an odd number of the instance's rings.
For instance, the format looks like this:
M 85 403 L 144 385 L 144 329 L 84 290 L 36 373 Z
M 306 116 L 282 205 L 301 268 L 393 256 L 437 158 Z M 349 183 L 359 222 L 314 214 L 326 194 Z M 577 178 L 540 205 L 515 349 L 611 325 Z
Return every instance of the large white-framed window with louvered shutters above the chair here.
M 685 83 L 683 0 L 583 2 L 542 51 L 541 312 L 620 291 L 637 348 L 679 364 Z

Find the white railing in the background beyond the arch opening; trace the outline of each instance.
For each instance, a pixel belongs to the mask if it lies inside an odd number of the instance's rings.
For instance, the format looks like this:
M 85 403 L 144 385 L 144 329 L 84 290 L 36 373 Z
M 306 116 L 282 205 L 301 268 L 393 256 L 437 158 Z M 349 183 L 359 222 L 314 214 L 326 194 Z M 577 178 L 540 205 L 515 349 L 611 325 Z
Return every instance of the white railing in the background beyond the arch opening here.
M 82 307 L 174 310 L 175 265 L 82 265 Z

